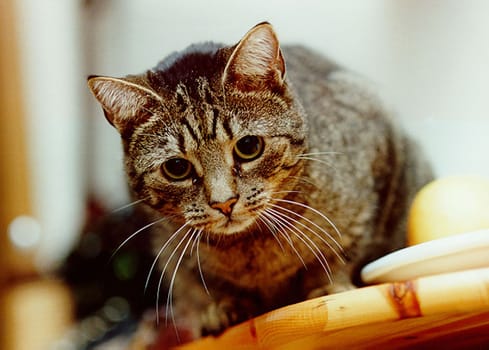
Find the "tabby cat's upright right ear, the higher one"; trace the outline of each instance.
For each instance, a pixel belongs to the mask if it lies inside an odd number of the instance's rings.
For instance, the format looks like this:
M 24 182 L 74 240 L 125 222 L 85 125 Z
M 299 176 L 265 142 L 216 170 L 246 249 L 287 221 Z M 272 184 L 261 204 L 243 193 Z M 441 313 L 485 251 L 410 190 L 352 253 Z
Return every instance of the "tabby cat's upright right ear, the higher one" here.
M 241 39 L 224 69 L 223 83 L 242 91 L 281 88 L 285 62 L 270 23 L 253 27 Z

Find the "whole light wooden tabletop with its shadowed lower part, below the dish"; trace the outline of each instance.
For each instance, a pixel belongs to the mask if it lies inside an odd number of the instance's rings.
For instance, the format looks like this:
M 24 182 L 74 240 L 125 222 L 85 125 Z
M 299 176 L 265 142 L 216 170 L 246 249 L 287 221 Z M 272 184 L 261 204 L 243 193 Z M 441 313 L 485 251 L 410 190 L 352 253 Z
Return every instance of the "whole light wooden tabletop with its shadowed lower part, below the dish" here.
M 489 348 L 489 267 L 308 300 L 180 349 L 418 349 L 435 345 Z

